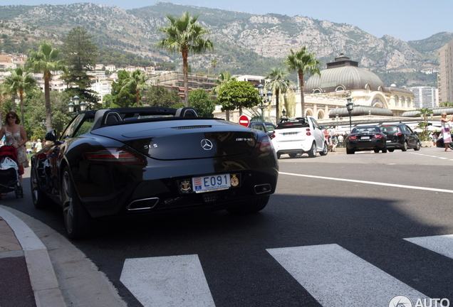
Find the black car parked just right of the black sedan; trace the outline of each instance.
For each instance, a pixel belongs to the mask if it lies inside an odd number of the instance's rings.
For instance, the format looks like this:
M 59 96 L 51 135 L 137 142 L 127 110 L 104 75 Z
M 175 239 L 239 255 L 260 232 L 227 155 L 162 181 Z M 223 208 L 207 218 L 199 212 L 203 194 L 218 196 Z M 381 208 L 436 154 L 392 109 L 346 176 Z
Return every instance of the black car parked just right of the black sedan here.
M 420 150 L 422 143 L 407 124 L 386 124 L 380 126 L 382 132 L 387 136 L 387 150 L 393 152 L 395 149 L 407 151 L 407 149 Z

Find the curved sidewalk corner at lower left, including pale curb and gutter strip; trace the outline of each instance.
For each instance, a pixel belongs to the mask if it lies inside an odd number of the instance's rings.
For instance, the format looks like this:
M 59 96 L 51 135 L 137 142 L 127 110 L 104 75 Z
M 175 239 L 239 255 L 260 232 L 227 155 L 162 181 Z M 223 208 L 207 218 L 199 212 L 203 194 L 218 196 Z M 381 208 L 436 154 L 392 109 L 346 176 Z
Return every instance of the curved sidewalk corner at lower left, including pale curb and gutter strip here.
M 65 237 L 0 205 L 0 306 L 127 304 L 107 276 Z

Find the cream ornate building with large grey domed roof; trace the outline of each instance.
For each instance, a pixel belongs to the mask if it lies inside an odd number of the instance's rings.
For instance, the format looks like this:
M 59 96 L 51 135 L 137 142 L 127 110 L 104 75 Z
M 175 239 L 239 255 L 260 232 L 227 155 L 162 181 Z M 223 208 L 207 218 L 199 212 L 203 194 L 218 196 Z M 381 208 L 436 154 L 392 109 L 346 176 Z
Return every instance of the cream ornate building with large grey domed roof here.
M 378 115 L 400 116 L 403 112 L 415 109 L 414 94 L 396 85 L 385 86 L 374 72 L 358 67 L 358 62 L 341 54 L 321 75 L 312 75 L 305 82 L 303 92 L 306 99 L 306 113 L 318 119 L 348 114 L 343 105 L 330 102 L 328 108 L 318 109 L 310 102 L 321 97 L 335 98 L 338 102 L 351 97 L 355 105 L 353 116 Z M 342 110 L 344 109 L 344 110 Z M 382 110 L 385 109 L 385 110 Z M 344 112 L 343 112 L 344 111 Z

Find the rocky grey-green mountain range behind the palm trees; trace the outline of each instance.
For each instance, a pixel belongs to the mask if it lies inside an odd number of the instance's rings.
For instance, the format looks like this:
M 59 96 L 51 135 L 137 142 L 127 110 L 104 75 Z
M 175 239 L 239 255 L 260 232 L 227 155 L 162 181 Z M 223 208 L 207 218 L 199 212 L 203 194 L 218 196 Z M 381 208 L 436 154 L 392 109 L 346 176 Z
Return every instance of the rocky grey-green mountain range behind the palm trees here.
M 2 43 L 21 45 L 43 38 L 61 43 L 68 31 L 83 26 L 102 49 L 180 65 L 179 54 L 157 49 L 155 43 L 162 38 L 157 28 L 167 25 L 165 14 L 181 16 L 184 11 L 199 14 L 198 21 L 211 31 L 209 39 L 214 42 L 213 53 L 190 55 L 192 72 L 210 69 L 211 73 L 266 75 L 270 68 L 282 65 L 290 49 L 306 45 L 321 60 L 322 69 L 344 53 L 360 67 L 380 75 L 386 84 L 427 85 L 435 83 L 436 77 L 420 70 L 437 68 L 437 50 L 453 39 L 453 33 L 437 33 L 425 40 L 405 42 L 392 36 L 376 38 L 346 23 L 305 16 L 255 15 L 167 2 L 127 11 L 89 3 L 0 6 L 0 38 Z M 210 68 L 214 58 L 218 65 Z

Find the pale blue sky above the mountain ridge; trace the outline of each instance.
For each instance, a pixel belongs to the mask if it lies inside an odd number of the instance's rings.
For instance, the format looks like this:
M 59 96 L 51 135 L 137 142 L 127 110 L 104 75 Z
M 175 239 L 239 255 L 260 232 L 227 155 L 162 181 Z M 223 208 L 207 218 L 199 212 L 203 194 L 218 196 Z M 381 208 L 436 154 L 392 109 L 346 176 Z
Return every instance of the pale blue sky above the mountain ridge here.
M 151 0 L 1 0 L 0 5 L 73 4 L 91 2 L 123 9 L 152 6 Z M 417 41 L 439 32 L 453 32 L 453 0 L 175 0 L 174 4 L 228 9 L 264 15 L 276 13 L 307 16 L 335 23 L 349 23 L 377 38 L 385 34 L 403 41 Z

